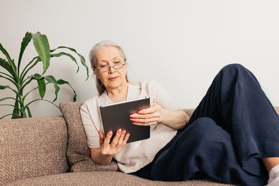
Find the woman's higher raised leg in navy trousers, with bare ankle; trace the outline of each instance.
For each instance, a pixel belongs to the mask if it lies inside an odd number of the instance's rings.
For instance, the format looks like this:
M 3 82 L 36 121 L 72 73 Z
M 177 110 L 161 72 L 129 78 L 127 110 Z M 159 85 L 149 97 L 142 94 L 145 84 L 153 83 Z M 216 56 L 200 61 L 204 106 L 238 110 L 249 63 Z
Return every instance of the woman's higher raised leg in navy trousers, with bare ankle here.
M 188 126 L 200 117 L 212 118 L 232 134 L 243 169 L 262 175 L 278 164 L 279 116 L 256 77 L 243 65 L 225 66 L 195 109 Z M 275 158 L 274 158 L 275 157 Z

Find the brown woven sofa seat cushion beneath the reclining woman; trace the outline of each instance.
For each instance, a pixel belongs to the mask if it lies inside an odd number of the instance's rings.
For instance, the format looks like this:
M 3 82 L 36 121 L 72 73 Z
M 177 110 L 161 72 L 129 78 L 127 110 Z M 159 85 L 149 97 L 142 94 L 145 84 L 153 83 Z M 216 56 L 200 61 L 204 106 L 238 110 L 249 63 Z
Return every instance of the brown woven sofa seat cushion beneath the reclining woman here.
M 91 171 L 60 173 L 52 176 L 17 180 L 6 185 L 228 185 L 215 180 L 187 180 L 181 182 L 162 182 L 146 180 L 119 171 Z

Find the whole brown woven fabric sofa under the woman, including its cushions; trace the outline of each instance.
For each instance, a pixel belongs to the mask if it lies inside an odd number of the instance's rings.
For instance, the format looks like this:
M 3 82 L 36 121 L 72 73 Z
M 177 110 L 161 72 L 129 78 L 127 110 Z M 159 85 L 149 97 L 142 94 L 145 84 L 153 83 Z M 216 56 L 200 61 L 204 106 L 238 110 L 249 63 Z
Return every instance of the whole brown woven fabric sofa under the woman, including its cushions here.
M 226 185 L 211 178 L 160 182 L 121 173 L 90 158 L 82 102 L 62 102 L 63 116 L 0 121 L 0 185 Z M 193 109 L 185 110 L 191 115 Z M 279 114 L 279 107 L 276 107 Z

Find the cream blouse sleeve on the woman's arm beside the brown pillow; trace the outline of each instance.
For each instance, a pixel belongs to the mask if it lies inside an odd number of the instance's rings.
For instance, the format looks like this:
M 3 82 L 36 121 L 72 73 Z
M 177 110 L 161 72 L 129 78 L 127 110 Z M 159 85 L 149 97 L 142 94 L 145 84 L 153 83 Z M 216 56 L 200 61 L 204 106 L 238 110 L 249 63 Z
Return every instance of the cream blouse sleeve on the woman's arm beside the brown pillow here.
M 89 148 L 98 148 L 100 147 L 98 127 L 94 125 L 91 115 L 92 111 L 89 111 L 89 109 L 90 108 L 88 107 L 86 102 L 84 102 L 84 104 L 82 104 L 82 107 L 80 107 L 80 116 L 82 117 L 82 123 L 84 125 Z

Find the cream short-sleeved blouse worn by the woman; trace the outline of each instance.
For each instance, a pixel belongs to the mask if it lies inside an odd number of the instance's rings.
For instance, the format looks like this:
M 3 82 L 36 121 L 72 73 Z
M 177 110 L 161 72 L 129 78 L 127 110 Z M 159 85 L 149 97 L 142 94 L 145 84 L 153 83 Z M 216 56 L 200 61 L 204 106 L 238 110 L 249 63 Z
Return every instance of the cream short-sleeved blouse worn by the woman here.
M 128 83 L 127 100 L 149 96 L 150 102 L 160 104 L 163 109 L 175 111 L 180 109 L 174 100 L 157 82 Z M 107 91 L 102 95 L 86 100 L 80 107 L 82 123 L 86 132 L 89 148 L 98 148 L 98 130 L 103 130 L 100 105 L 112 103 Z M 152 162 L 156 153 L 163 148 L 176 134 L 177 130 L 163 124 L 151 125 L 150 138 L 126 144 L 120 153 L 114 155 L 119 169 L 124 173 L 135 172 Z

